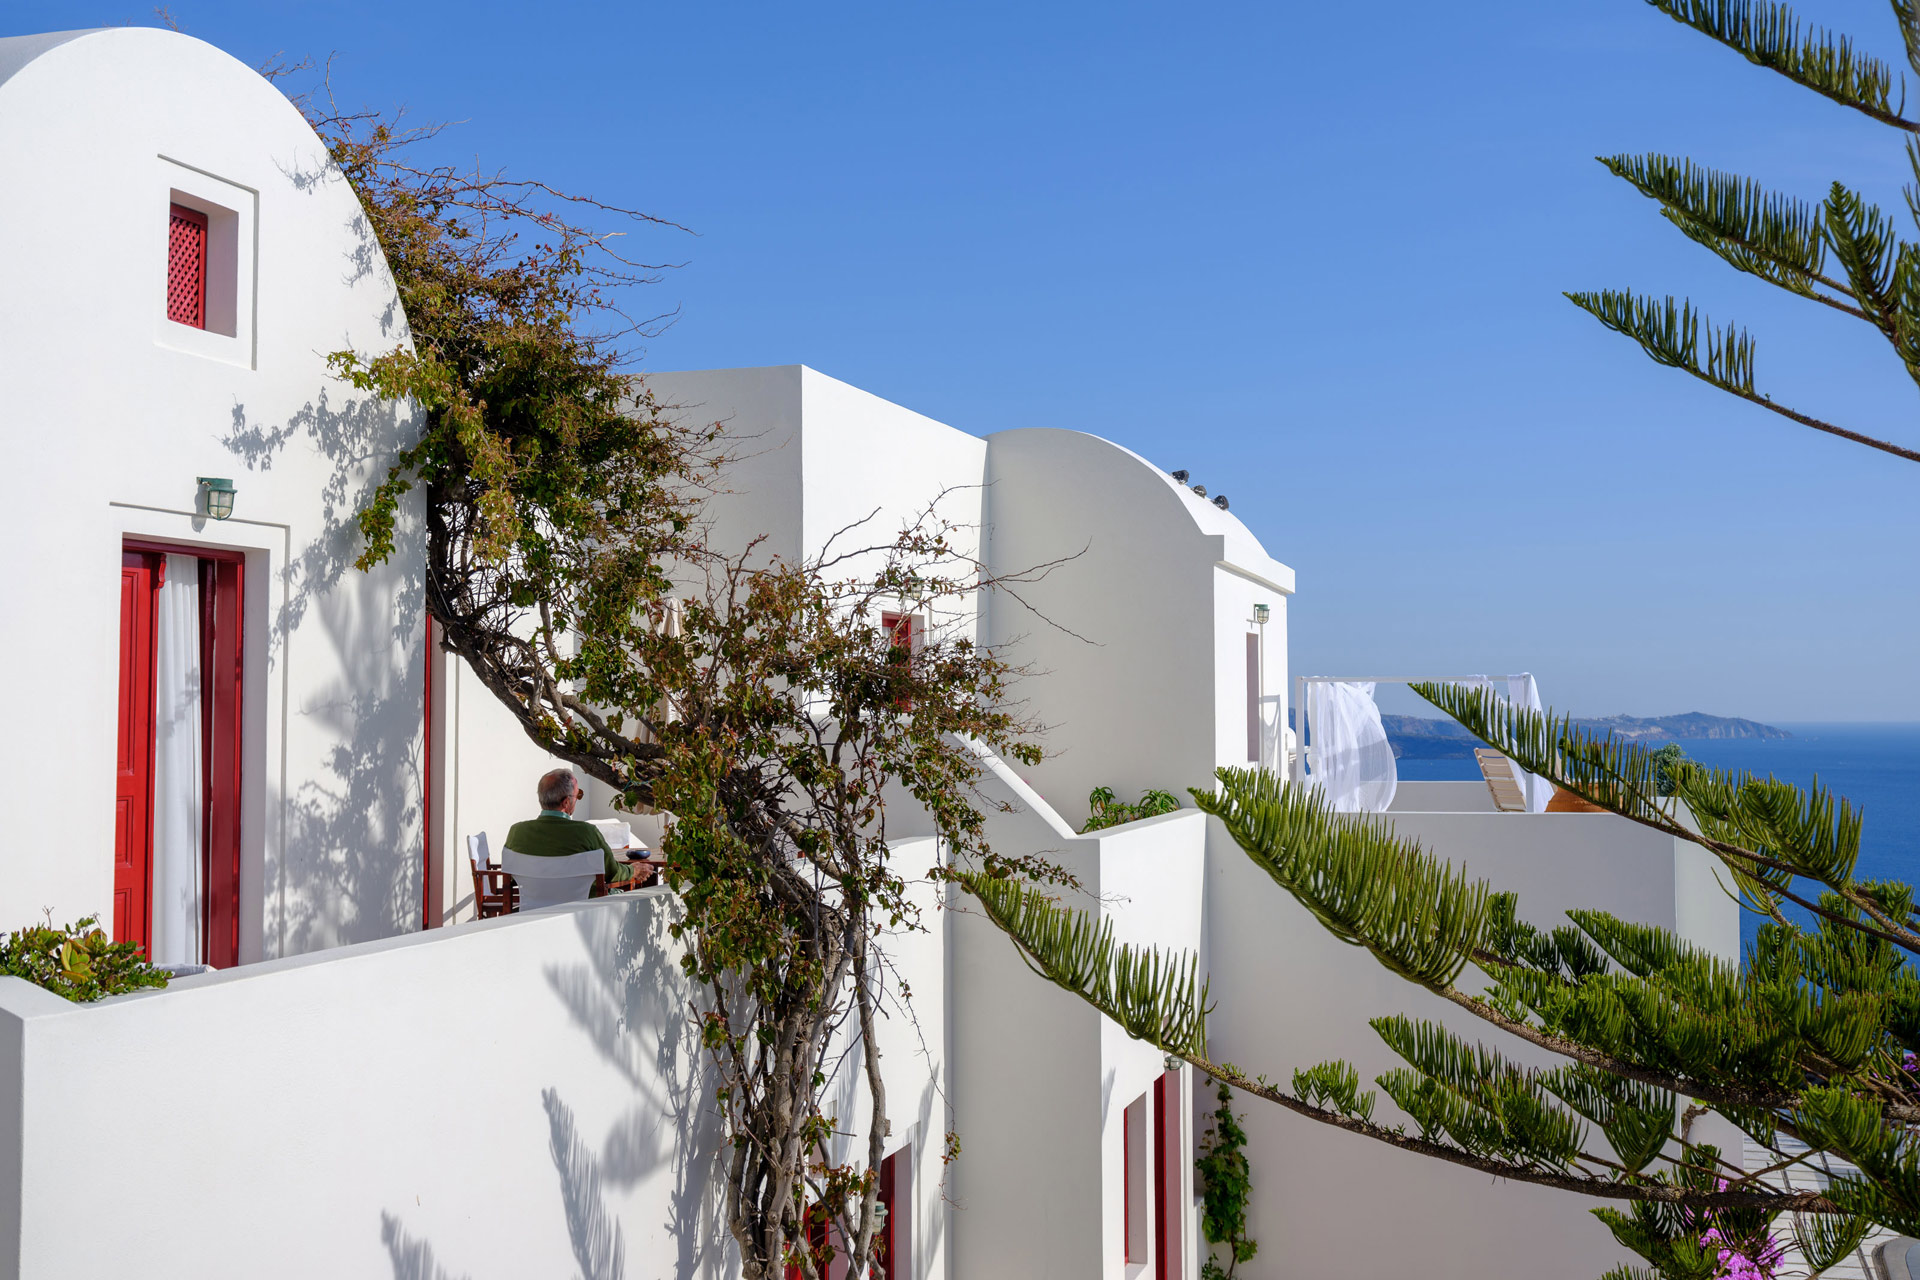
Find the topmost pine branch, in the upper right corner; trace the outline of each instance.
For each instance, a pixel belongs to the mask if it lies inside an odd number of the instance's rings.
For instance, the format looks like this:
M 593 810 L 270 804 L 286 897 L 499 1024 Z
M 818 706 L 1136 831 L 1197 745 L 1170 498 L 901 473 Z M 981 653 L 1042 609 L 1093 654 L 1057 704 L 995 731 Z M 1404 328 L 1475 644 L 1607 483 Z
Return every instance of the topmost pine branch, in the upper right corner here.
M 1920 132 L 1903 115 L 1907 83 L 1887 63 L 1853 48 L 1853 40 L 1824 27 L 1801 35 L 1799 17 L 1768 0 L 1647 0 L 1676 23 L 1718 40 L 1757 67 L 1776 71 L 1862 115 Z M 1908 44 L 1908 48 L 1912 48 Z M 1893 98 L 1895 88 L 1899 100 Z

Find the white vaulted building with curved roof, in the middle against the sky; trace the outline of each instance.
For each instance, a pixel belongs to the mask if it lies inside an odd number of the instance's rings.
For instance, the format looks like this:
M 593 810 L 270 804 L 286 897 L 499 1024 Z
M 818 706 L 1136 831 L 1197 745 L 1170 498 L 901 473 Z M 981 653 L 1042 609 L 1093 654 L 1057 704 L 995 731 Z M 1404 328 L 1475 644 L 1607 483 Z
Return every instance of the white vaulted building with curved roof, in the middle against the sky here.
M 1286 670 L 1292 570 L 1236 516 L 1112 441 L 1029 428 L 987 443 L 995 568 L 1062 560 L 1020 587 L 1027 604 L 1000 593 L 989 606 L 993 643 L 1033 670 L 1020 693 L 1050 725 L 1035 789 L 1083 823 L 1094 787 L 1185 796 L 1215 766 L 1246 764 L 1244 635 L 1254 603 L 1271 604 L 1267 693 L 1284 689 L 1271 677 Z

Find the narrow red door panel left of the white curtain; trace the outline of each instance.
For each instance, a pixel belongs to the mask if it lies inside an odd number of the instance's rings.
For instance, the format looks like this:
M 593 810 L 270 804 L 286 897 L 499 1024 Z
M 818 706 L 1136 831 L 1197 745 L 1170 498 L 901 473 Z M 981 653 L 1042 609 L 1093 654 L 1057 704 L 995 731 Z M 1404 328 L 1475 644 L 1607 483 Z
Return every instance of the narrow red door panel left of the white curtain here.
M 154 890 L 154 589 L 163 560 L 121 553 L 119 739 L 113 773 L 113 940 L 148 946 Z

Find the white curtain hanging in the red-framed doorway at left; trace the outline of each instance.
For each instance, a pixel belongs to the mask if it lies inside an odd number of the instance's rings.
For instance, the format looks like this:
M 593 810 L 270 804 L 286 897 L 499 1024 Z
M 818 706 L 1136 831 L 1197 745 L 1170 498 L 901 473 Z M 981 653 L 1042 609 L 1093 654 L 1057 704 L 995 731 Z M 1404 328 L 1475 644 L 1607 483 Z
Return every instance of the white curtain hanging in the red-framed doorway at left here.
M 200 963 L 200 560 L 167 557 L 154 652 L 154 954 Z

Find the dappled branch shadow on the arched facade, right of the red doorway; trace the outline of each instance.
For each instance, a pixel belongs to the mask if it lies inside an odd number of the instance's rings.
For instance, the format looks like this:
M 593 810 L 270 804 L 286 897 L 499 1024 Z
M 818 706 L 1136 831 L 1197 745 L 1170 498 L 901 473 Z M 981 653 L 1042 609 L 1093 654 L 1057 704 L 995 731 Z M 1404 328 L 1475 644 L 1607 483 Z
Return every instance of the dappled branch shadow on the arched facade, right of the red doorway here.
M 223 443 L 252 472 L 300 445 L 326 459 L 321 524 L 284 566 L 286 599 L 273 620 L 269 664 L 286 664 L 300 635 L 300 666 L 340 672 L 305 685 L 288 750 L 309 735 L 321 758 L 294 756 L 300 777 L 286 806 L 278 879 L 267 890 L 267 936 L 278 954 L 365 942 L 419 927 L 424 770 L 424 543 L 419 520 L 403 520 L 392 560 L 361 574 L 355 524 L 386 478 L 405 411 L 378 399 L 334 401 L 323 393 L 269 426 L 234 405 Z M 324 654 L 324 656 L 323 656 Z

